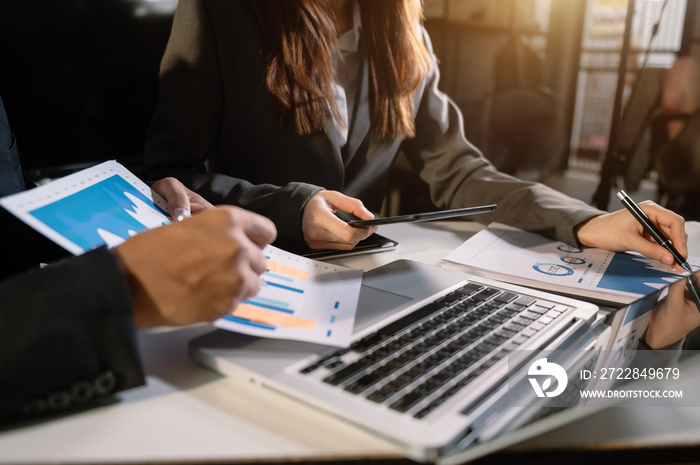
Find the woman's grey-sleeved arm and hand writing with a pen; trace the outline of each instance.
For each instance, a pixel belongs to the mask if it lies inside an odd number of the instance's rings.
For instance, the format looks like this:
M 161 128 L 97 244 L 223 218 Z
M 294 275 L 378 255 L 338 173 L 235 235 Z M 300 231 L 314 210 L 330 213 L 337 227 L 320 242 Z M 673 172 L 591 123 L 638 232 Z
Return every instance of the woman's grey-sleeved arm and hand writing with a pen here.
M 432 69 L 418 103 L 416 137 L 402 148 L 413 168 L 430 185 L 433 202 L 442 208 L 496 203 L 494 213 L 476 220 L 498 221 L 540 233 L 574 246 L 613 252 L 636 251 L 673 266 L 666 249 L 645 236 L 624 209 L 607 213 L 543 184 L 498 172 L 464 135 L 461 112 L 438 89 L 439 71 L 430 40 Z M 546 156 L 546 154 L 543 154 Z M 642 204 L 647 215 L 687 255 L 683 219 L 653 202 Z

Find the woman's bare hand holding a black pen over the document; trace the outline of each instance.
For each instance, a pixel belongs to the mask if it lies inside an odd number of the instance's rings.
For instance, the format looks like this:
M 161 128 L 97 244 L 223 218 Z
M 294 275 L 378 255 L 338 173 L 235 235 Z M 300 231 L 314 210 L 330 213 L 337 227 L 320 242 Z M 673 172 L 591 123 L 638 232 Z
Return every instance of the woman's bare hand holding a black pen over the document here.
M 668 237 L 678 252 L 688 256 L 685 220 L 680 215 L 656 203 L 646 200 L 639 204 L 649 219 Z M 679 272 L 684 270 L 675 262 L 673 255 L 654 241 L 641 224 L 627 210 L 618 210 L 597 216 L 580 225 L 576 230 L 579 242 L 587 247 L 597 247 L 611 252 L 639 252 L 658 260 Z

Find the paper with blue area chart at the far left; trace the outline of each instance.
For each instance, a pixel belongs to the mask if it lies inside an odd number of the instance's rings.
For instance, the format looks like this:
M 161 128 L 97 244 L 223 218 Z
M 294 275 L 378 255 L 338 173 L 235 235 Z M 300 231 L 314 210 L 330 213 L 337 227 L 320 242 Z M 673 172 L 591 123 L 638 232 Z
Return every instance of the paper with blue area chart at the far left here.
M 74 255 L 116 247 L 170 223 L 167 202 L 116 161 L 3 197 L 0 204 Z

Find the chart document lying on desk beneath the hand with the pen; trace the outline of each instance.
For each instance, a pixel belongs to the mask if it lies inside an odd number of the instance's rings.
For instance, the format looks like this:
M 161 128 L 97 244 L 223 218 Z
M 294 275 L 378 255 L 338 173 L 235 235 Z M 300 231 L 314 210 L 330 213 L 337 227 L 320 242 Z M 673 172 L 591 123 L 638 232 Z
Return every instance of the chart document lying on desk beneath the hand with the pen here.
M 697 257 L 688 263 L 700 269 Z M 683 276 L 639 254 L 579 249 L 498 223 L 449 253 L 440 265 L 614 306 Z

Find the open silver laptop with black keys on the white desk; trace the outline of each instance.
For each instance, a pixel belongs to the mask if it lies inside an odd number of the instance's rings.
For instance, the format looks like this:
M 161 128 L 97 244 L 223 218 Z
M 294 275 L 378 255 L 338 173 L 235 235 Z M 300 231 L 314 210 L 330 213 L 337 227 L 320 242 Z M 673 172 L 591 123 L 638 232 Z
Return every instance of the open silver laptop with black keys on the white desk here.
M 566 354 L 556 362 L 567 373 L 592 368 L 602 320 L 590 303 L 397 260 L 364 274 L 349 347 L 215 330 L 193 339 L 190 354 L 396 443 L 413 460 L 449 465 L 580 418 L 581 409 L 539 396 L 527 370 L 555 353 Z

